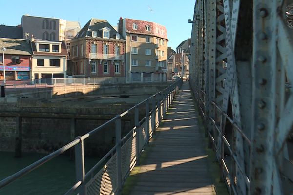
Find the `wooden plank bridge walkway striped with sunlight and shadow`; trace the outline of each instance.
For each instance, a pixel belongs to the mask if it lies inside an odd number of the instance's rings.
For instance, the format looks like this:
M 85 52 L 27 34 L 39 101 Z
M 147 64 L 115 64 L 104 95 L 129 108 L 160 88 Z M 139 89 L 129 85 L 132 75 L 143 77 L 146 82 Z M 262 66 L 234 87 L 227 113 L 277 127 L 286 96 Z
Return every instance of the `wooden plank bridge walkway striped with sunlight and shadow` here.
M 124 189 L 123 194 L 216 194 L 197 117 L 189 84 L 185 82 L 139 165 L 128 177 L 128 190 Z

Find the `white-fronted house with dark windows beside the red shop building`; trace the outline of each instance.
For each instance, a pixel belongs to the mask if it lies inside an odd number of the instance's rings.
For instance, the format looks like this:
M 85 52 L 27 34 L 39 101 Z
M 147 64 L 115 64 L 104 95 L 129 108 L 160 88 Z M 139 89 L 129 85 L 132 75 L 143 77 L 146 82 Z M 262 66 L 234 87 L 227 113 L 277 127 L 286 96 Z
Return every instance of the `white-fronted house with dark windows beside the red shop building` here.
M 67 50 L 64 41 L 31 40 L 33 51 L 31 78 L 66 78 Z

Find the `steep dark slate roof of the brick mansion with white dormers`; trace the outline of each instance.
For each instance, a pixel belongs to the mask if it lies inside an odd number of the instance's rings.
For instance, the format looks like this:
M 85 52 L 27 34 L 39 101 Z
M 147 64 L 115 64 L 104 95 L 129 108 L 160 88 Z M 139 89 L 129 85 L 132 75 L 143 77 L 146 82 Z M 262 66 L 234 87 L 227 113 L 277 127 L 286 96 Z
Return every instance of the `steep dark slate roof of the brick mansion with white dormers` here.
M 111 24 L 107 20 L 102 19 L 94 19 L 89 20 L 84 27 L 80 30 L 80 32 L 74 37 L 74 39 L 83 38 L 83 37 L 92 37 L 92 32 L 96 31 L 97 36 L 96 39 L 103 39 L 102 36 L 102 28 L 110 29 L 110 39 L 116 39 L 117 31 L 111 26 Z M 122 38 L 122 36 L 120 36 Z

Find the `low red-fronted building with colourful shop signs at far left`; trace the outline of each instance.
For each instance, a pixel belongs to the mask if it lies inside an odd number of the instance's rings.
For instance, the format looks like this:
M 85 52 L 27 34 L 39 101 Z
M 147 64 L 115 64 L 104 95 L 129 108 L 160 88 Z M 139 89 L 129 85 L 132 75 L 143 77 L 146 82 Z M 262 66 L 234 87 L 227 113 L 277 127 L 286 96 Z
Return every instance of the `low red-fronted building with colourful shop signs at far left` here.
M 5 49 L 4 49 L 5 48 Z M 4 53 L 4 60 L 2 56 Z M 0 81 L 29 80 L 32 66 L 32 50 L 29 40 L 0 38 Z

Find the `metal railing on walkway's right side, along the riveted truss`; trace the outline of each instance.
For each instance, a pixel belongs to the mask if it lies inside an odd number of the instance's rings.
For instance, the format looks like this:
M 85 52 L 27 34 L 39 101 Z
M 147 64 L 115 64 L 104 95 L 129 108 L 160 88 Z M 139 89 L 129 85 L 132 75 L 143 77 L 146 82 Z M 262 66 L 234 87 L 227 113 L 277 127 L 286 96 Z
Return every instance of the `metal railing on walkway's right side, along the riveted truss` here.
M 239 157 L 237 158 L 236 154 L 236 144 L 234 143 L 235 140 L 232 140 L 232 142 L 228 140 L 228 138 L 225 136 L 225 132 L 222 132 L 221 130 L 221 124 L 219 122 L 216 122 L 216 117 L 221 118 L 222 121 L 228 121 L 232 125 L 232 134 L 239 133 L 242 137 L 243 141 L 245 141 L 248 145 L 248 151 L 251 156 L 251 140 L 245 135 L 245 133 L 242 131 L 242 129 L 237 125 L 235 121 L 233 121 L 221 108 L 218 106 L 215 102 L 210 101 L 208 102 L 208 99 L 206 99 L 206 93 L 202 89 L 196 90 L 191 85 L 192 91 L 194 93 L 195 99 L 197 101 L 197 105 L 199 108 L 199 113 L 201 117 L 204 119 L 204 125 L 206 129 L 206 135 L 209 137 L 209 140 L 212 143 L 212 147 L 214 151 L 216 152 L 217 160 L 221 167 L 221 172 L 223 179 L 226 183 L 226 185 L 229 187 L 230 190 L 233 191 L 234 194 L 237 194 L 237 181 L 235 181 L 234 178 L 236 178 L 236 171 L 238 172 L 238 175 L 240 175 L 242 178 L 238 177 L 239 179 L 243 179 L 245 183 L 245 188 L 250 188 L 250 177 L 249 174 L 247 174 L 247 170 L 243 169 L 243 166 L 241 166 L 239 162 Z M 207 104 L 209 103 L 210 106 L 213 106 L 213 110 L 215 112 L 215 115 L 213 117 L 210 117 L 211 114 L 208 113 Z M 210 121 L 210 122 L 209 122 Z M 210 125 L 210 126 L 209 126 Z M 226 124 L 227 125 L 227 124 Z M 211 128 L 210 128 L 211 127 Z M 221 140 L 221 141 L 219 141 Z M 228 149 L 229 155 L 231 158 L 229 160 L 225 159 L 227 158 L 227 154 L 225 156 L 225 148 Z M 232 165 L 232 167 L 229 167 L 229 165 Z M 239 185 L 239 184 L 238 184 Z

